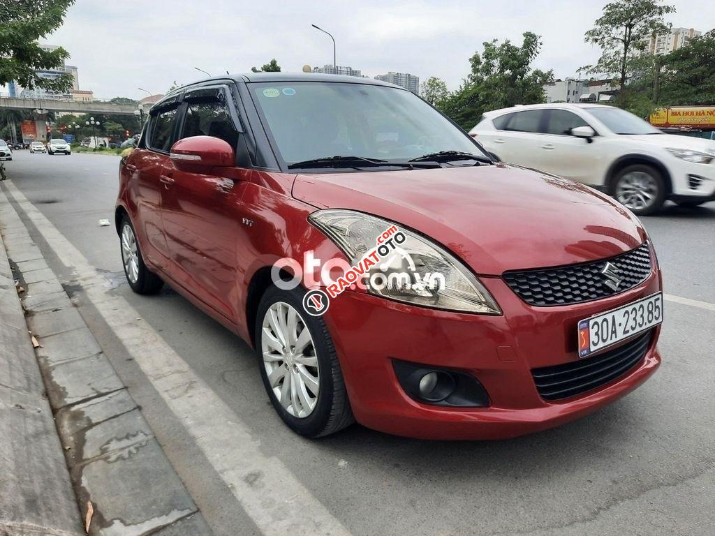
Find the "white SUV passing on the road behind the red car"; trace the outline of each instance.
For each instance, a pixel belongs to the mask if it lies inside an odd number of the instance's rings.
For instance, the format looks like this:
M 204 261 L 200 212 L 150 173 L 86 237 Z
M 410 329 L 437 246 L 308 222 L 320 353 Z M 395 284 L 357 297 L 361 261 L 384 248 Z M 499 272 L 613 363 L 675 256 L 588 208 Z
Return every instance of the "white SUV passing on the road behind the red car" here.
M 589 184 L 639 215 L 665 199 L 715 199 L 715 142 L 663 134 L 613 106 L 514 106 L 485 113 L 469 134 L 503 162 Z

